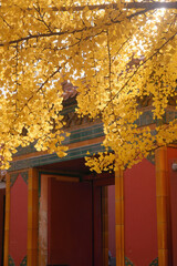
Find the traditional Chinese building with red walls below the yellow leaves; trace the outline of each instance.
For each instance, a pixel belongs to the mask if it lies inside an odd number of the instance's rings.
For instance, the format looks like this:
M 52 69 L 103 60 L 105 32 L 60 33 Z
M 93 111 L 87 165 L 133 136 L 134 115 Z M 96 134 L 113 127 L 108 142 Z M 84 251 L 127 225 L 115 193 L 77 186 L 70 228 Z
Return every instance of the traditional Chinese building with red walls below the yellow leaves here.
M 124 172 L 91 173 L 84 156 L 103 150 L 103 126 L 79 119 L 75 106 L 69 85 L 67 156 L 19 149 L 6 193 L 0 183 L 0 265 L 107 266 L 110 254 L 116 266 L 176 266 L 176 146 Z M 168 110 L 166 122 L 174 115 Z M 137 123 L 153 129 L 150 106 Z

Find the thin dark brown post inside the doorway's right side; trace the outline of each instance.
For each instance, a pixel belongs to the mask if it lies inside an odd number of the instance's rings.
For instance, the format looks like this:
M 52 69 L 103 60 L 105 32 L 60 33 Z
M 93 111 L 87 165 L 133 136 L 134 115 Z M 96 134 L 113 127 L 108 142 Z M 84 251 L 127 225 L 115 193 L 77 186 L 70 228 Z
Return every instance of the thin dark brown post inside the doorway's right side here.
M 107 186 L 102 186 L 102 236 L 103 236 L 103 266 L 108 265 L 108 203 Z

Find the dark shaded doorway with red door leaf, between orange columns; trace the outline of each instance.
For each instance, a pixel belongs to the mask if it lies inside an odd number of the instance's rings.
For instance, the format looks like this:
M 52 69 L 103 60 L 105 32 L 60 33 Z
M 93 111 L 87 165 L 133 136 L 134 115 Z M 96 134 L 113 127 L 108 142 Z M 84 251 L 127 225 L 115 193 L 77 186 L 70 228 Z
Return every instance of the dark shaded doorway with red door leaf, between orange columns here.
M 108 204 L 114 201 L 114 195 L 110 197 L 106 193 L 108 191 L 112 194 L 113 190 L 110 192 L 108 186 L 114 186 L 114 173 L 92 174 L 84 158 L 79 158 L 44 166 L 44 183 L 45 178 L 48 264 L 107 266 L 108 250 L 112 258 L 115 256 L 112 252 L 114 239 L 110 245 L 107 227 L 108 213 L 113 216 L 113 212 L 108 212 Z M 114 208 L 112 206 L 112 211 Z M 114 224 L 114 217 L 112 221 Z

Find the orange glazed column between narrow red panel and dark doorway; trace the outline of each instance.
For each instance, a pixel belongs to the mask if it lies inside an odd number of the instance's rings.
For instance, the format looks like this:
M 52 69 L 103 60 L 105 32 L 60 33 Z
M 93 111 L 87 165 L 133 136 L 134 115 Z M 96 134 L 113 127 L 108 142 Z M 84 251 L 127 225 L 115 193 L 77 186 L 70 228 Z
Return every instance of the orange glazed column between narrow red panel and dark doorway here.
M 38 266 L 39 176 L 29 170 L 28 184 L 28 266 Z

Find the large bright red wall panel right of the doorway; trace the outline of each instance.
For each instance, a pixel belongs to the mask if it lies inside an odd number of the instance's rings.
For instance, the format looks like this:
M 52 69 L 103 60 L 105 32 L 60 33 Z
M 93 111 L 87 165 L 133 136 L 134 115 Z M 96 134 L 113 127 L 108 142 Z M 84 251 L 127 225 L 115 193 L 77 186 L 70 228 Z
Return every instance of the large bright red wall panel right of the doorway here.
M 157 254 L 155 166 L 144 160 L 125 171 L 125 256 L 148 266 Z

